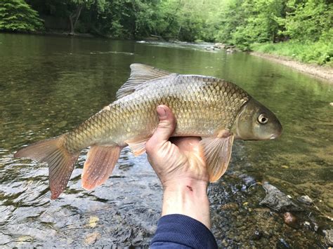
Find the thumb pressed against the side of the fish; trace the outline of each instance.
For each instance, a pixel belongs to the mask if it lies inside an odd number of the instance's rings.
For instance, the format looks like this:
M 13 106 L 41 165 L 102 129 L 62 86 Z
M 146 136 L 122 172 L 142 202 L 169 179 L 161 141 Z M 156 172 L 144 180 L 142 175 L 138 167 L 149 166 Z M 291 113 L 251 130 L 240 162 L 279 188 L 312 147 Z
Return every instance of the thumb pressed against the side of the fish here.
M 157 107 L 157 115 L 159 117 L 159 124 L 155 130 L 155 133 L 147 142 L 148 147 L 150 145 L 158 146 L 160 144 L 164 144 L 164 142 L 167 142 L 172 133 L 174 133 L 176 126 L 176 119 L 174 114 L 171 112 L 169 107 L 166 107 L 166 105 L 159 105 Z

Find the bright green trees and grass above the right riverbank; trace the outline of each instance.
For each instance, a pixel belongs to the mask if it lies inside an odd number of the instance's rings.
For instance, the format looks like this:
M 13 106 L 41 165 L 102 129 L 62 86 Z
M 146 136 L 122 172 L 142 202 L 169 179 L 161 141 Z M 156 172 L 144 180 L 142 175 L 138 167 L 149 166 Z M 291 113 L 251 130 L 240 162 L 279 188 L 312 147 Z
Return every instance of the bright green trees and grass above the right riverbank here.
M 229 0 L 218 18 L 216 40 L 332 65 L 332 6 L 329 0 Z

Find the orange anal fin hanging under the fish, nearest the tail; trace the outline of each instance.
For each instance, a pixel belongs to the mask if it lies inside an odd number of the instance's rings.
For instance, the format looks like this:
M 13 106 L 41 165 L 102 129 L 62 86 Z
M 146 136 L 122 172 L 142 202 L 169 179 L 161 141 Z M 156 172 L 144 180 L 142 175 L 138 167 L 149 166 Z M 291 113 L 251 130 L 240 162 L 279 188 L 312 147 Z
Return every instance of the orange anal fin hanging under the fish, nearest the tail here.
M 121 150 L 119 146 L 91 146 L 81 175 L 82 187 L 91 190 L 103 184 L 115 168 Z

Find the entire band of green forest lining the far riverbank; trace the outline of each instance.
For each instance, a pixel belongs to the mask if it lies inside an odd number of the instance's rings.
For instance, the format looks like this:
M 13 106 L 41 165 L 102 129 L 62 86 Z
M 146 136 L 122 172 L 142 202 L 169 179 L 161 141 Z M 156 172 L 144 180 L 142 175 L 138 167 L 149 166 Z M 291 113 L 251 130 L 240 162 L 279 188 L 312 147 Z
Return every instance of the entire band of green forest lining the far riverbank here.
M 208 41 L 333 66 L 330 0 L 1 0 L 5 32 Z

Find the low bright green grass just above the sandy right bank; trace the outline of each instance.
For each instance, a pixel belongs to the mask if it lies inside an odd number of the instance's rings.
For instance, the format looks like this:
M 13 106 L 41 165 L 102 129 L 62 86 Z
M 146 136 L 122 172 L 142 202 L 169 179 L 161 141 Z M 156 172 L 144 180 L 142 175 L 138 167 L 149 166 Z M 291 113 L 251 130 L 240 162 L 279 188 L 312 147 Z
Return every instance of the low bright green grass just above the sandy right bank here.
M 280 43 L 254 43 L 252 51 L 282 55 L 300 62 L 315 63 L 333 67 L 333 44 L 322 41 L 285 41 Z

